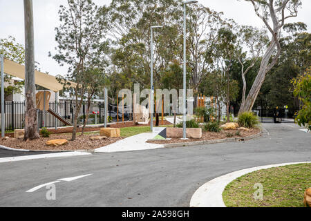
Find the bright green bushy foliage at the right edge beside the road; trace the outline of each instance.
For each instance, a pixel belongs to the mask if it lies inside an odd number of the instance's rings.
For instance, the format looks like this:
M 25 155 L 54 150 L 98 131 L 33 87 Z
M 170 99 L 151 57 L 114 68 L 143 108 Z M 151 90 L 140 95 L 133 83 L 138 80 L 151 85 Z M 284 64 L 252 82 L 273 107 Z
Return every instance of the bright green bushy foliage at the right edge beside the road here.
M 305 126 L 311 131 L 311 69 L 308 69 L 304 75 L 292 80 L 294 84 L 294 95 L 299 97 L 303 103 L 295 122 L 299 126 Z

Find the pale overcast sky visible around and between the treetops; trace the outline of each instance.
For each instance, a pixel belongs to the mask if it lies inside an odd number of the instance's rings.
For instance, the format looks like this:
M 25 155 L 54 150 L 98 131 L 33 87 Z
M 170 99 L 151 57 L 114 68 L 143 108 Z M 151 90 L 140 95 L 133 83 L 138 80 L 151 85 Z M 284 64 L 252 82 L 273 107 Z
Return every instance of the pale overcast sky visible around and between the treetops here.
M 109 4 L 111 0 L 94 0 L 97 5 Z M 238 0 L 198 0 L 204 6 L 218 12 L 224 12 L 225 17 L 234 19 L 240 25 L 263 27 L 263 22 L 256 17 L 251 3 Z M 60 5 L 66 5 L 66 0 L 33 0 L 35 16 L 35 60 L 39 62 L 41 71 L 50 75 L 64 75 L 66 67 L 60 67 L 56 61 L 48 57 L 48 52 L 56 46 L 55 27 L 59 26 L 57 11 Z M 311 1 L 302 0 L 303 8 L 299 16 L 288 22 L 303 21 L 311 30 Z M 20 44 L 24 44 L 23 1 L 0 0 L 0 38 L 12 35 Z

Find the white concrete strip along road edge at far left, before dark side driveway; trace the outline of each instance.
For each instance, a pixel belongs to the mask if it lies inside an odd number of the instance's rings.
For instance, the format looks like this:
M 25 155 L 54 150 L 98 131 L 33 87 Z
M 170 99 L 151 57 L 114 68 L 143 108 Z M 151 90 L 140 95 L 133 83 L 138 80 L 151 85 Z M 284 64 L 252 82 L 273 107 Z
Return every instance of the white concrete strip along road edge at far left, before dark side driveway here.
M 73 157 L 73 156 L 80 156 L 80 155 L 91 155 L 91 153 L 64 152 L 64 153 L 28 155 L 28 156 L 22 156 L 22 157 L 5 157 L 5 158 L 0 158 L 0 163 L 17 162 L 17 161 L 23 161 L 23 160 L 38 160 L 38 159 L 46 159 L 46 158 L 53 158 L 53 157 Z

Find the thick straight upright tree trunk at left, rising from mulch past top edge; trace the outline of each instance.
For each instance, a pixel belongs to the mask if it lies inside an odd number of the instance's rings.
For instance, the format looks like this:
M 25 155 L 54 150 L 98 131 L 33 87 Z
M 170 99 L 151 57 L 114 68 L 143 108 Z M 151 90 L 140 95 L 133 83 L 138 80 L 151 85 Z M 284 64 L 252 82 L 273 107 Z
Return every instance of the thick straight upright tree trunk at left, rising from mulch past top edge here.
M 24 0 L 25 15 L 25 136 L 26 140 L 38 139 L 37 106 L 35 86 L 35 46 L 32 0 Z

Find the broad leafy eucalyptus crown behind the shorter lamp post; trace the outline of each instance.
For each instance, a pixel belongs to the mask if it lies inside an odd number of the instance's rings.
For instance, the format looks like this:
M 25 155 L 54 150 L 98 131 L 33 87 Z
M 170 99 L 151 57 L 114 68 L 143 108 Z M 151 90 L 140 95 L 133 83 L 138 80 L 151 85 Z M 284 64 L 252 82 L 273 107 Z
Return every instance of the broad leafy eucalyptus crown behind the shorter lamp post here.
M 139 83 L 147 88 L 150 81 L 150 27 L 162 25 L 164 28 L 155 34 L 154 69 L 156 82 L 160 83 L 160 71 L 164 70 L 176 52 L 175 36 L 179 35 L 174 24 L 177 0 L 113 0 L 109 7 L 103 7 L 109 21 L 108 35 L 111 37 L 112 63 L 115 73 L 120 77 L 122 85 L 131 88 Z M 173 40 L 172 40 L 173 39 Z M 163 45 L 162 45 L 163 43 Z M 164 48 L 164 45 L 167 46 Z M 168 46 L 169 45 L 169 46 Z

